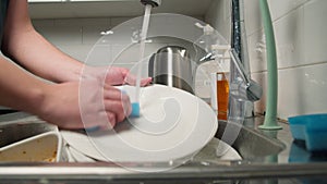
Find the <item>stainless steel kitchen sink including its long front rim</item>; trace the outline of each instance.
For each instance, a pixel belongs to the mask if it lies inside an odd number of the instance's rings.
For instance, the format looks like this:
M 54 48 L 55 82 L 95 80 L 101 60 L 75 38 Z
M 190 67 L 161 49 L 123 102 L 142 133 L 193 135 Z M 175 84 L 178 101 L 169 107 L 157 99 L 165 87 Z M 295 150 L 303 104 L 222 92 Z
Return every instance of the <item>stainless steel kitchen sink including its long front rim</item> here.
M 259 120 L 262 123 L 263 121 Z M 289 156 L 292 139 L 289 131 L 264 132 L 257 125 L 219 121 L 216 138 L 232 146 L 242 160 L 193 160 L 181 167 L 158 173 L 131 173 L 116 163 L 110 162 L 1 162 L 1 181 L 10 183 L 159 183 L 161 181 L 179 183 L 234 183 L 240 180 L 258 179 L 295 179 L 323 177 L 327 174 L 325 162 L 291 163 L 280 162 L 280 156 Z M 48 124 L 35 116 L 22 112 L 0 115 L 0 146 L 7 146 L 46 132 L 57 131 L 57 126 Z M 284 137 L 288 137 L 284 139 Z M 288 160 L 284 159 L 284 160 Z M 132 164 L 132 163 L 130 163 Z M 142 163 L 133 163 L 143 167 Z M 157 163 L 144 165 L 160 167 Z M 166 167 L 167 163 L 164 163 Z M 43 179 L 43 180 L 40 180 Z M 133 182 L 132 182 L 133 181 Z M 148 182 L 149 181 L 149 182 Z M 214 181 L 214 182 L 213 182 Z M 275 179 L 272 179 L 275 181 Z M 293 181 L 293 180 L 292 180 Z M 1 183 L 1 182 L 0 182 Z M 165 183 L 165 182 L 161 182 Z M 262 183 L 262 182 L 259 182 Z M 293 182 L 296 183 L 296 182 Z

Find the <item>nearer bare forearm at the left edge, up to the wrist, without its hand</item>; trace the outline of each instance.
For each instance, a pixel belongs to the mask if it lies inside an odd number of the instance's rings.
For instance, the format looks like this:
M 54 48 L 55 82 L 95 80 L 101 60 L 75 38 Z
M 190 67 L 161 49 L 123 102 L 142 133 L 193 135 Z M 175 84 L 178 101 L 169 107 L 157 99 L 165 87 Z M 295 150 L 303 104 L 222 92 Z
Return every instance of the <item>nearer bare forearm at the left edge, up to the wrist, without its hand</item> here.
M 2 57 L 0 65 L 0 105 L 38 113 L 49 84 L 37 79 Z

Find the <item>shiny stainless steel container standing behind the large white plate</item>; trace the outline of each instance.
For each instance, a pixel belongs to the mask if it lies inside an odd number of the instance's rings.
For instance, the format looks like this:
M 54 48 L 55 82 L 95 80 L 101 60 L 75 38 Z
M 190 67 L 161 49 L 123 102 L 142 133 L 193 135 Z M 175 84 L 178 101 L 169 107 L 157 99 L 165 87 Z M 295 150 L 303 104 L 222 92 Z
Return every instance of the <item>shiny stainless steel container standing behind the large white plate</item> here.
M 149 60 L 148 74 L 155 84 L 194 94 L 191 57 L 183 47 L 167 46 L 159 49 Z

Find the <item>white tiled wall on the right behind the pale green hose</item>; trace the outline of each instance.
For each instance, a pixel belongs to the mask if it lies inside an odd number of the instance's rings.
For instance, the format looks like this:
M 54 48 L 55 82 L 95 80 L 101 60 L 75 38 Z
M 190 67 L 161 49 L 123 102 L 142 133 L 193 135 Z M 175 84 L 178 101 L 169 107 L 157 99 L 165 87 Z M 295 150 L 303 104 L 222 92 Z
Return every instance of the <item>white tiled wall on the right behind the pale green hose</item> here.
M 226 20 L 218 0 L 206 20 L 225 35 Z M 267 63 L 258 0 L 244 0 L 252 77 L 266 94 Z M 326 0 L 268 0 L 278 56 L 278 116 L 327 112 Z M 222 4 L 222 5 L 221 5 Z M 219 16 L 217 16 L 219 15 Z M 265 95 L 255 103 L 265 111 Z

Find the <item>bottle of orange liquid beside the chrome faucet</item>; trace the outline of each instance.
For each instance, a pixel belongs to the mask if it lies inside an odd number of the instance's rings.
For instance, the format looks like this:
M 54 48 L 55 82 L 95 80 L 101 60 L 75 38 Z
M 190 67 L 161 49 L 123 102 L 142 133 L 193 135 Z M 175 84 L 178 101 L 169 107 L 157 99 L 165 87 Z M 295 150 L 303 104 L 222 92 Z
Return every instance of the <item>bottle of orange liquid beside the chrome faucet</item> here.
M 218 120 L 227 120 L 229 85 L 223 73 L 217 73 Z

